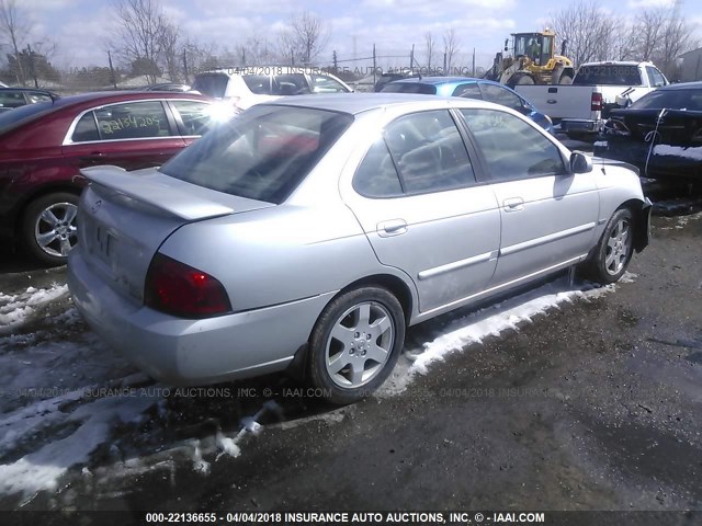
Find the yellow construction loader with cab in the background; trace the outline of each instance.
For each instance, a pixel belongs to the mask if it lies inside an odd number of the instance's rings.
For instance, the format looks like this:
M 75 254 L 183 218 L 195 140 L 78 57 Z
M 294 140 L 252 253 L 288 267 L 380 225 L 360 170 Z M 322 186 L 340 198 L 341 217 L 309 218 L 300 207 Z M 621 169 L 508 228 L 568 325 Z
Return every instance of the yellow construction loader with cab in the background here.
M 505 41 L 505 53 L 495 56 L 492 67 L 485 78 L 507 84 L 570 84 L 575 77 L 573 60 L 565 56 L 566 43 L 556 55 L 556 34 L 551 30 L 541 33 L 513 33 L 512 54 L 509 38 Z

